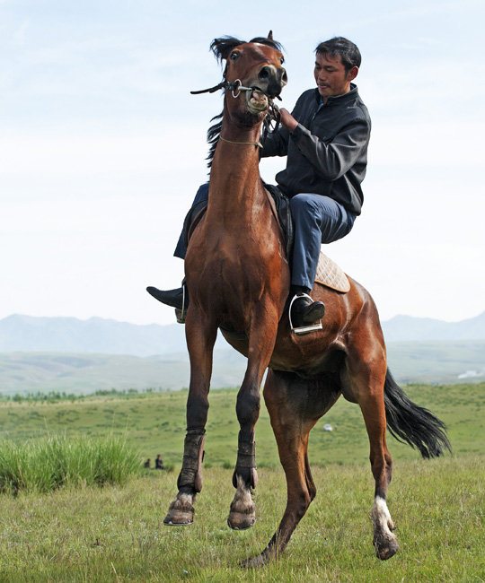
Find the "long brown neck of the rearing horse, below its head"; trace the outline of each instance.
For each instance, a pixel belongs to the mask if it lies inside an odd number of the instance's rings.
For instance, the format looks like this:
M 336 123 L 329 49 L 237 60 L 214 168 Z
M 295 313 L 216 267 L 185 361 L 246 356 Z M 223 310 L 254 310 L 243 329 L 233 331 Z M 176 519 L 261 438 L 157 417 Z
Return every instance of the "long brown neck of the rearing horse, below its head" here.
M 207 216 L 218 220 L 251 216 L 264 196 L 259 169 L 260 126 L 246 129 L 224 123 L 210 172 Z M 234 144 L 234 142 L 236 144 Z M 249 145 L 248 145 L 249 144 Z

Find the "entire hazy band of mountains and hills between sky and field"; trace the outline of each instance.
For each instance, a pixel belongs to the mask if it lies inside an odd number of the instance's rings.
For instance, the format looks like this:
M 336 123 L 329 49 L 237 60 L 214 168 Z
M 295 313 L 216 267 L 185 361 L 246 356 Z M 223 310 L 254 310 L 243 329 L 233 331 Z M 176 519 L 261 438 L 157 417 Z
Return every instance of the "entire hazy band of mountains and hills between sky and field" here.
M 485 313 L 462 322 L 397 316 L 384 322 L 388 362 L 401 383 L 485 379 Z M 241 383 L 246 359 L 219 338 L 211 387 Z M 0 394 L 189 385 L 184 326 L 90 318 L 0 320 Z

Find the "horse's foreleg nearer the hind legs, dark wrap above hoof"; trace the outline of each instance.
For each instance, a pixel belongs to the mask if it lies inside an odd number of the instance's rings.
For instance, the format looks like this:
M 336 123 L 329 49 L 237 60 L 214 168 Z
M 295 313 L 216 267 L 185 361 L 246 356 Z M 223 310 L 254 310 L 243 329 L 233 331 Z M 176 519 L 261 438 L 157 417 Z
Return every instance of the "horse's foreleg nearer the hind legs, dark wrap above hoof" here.
M 236 413 L 240 424 L 237 460 L 233 474 L 236 488 L 227 524 L 235 530 L 250 528 L 256 521 L 251 488 L 256 487 L 254 427 L 260 416 L 260 384 L 276 340 L 278 317 L 268 318 L 268 310 L 259 310 L 249 335 L 248 367 L 237 395 Z M 266 318 L 263 318 L 266 315 Z

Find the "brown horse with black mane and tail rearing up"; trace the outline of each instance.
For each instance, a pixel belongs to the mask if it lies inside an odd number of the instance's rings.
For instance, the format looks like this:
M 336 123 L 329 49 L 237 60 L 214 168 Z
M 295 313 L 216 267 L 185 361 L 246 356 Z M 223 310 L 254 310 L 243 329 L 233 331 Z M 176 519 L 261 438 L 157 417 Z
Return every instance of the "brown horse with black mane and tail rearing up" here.
M 225 37 L 215 39 L 211 48 L 226 61 L 225 81 L 216 86 L 225 89 L 224 111 L 220 132 L 209 133 L 214 147 L 207 213 L 191 235 L 185 260 L 190 294 L 187 435 L 179 492 L 164 522 L 193 521 L 193 502 L 202 486 L 213 347 L 220 329 L 248 359 L 237 396 L 240 432 L 229 526 L 243 529 L 255 521 L 254 428 L 267 368 L 264 398 L 287 477 L 287 508 L 278 529 L 264 551 L 244 564 L 261 565 L 281 553 L 308 509 L 316 492 L 307 457 L 308 435 L 340 395 L 357 403 L 364 416 L 375 477 L 375 552 L 388 559 L 398 544 L 386 504 L 392 470 L 386 413 L 392 434 L 419 448 L 423 457 L 438 456 L 449 446 L 443 424 L 411 403 L 392 380 L 375 303 L 357 282 L 350 280 L 351 289 L 344 294 L 315 283 L 312 297 L 327 307 L 323 329 L 291 334 L 285 242 L 259 172 L 261 124 L 272 98 L 286 84 L 283 57 L 271 37 L 249 43 Z

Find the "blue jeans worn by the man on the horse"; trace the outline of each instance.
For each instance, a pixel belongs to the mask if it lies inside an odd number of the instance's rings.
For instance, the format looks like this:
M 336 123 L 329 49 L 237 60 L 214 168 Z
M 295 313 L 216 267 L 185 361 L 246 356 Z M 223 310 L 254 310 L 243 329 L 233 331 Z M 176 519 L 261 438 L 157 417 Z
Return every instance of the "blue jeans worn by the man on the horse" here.
M 208 182 L 198 188 L 192 206 L 207 198 Z M 332 198 L 312 194 L 293 196 L 290 210 L 295 222 L 291 283 L 312 289 L 321 243 L 331 243 L 348 235 L 356 216 Z M 181 234 L 173 255 L 184 259 L 186 252 Z

